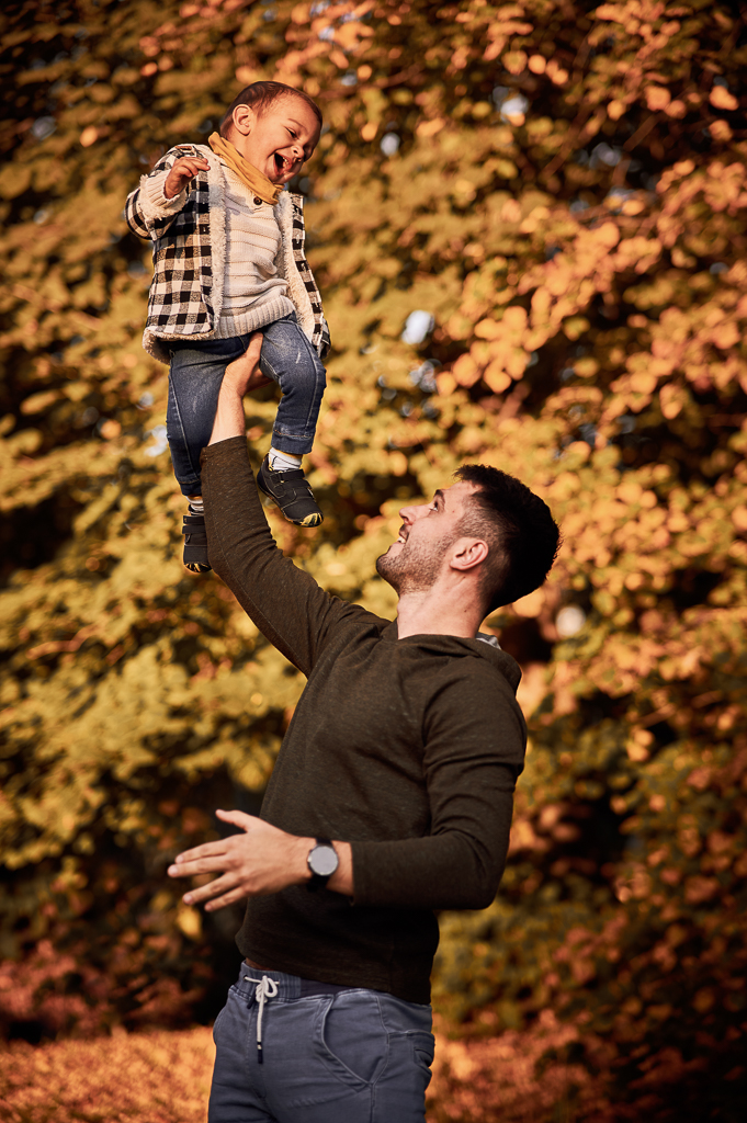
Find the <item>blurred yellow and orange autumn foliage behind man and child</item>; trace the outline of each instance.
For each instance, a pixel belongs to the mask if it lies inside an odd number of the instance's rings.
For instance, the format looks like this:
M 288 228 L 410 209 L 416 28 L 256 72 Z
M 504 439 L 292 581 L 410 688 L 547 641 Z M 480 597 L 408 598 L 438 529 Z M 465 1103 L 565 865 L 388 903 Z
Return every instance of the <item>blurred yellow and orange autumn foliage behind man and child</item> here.
M 309 457 L 326 521 L 270 512 L 282 548 L 392 614 L 372 574 L 398 508 L 464 460 L 527 481 L 565 536 L 546 587 L 489 621 L 530 746 L 497 902 L 441 917 L 440 1025 L 513 1042 L 500 1063 L 572 1066 L 570 1114 L 545 1095 L 537 1120 L 743 1117 L 738 9 L 3 6 L 7 1035 L 209 1019 L 235 970 L 237 917 L 180 905 L 164 870 L 216 806 L 258 809 L 303 683 L 181 567 L 166 368 L 140 348 L 149 252 L 121 209 L 275 77 L 325 115 L 294 186 L 334 343 Z M 247 402 L 256 463 L 274 409 Z M 494 1117 L 468 1066 L 449 1079 L 462 1114 L 434 1119 Z

